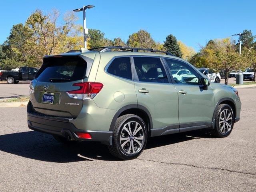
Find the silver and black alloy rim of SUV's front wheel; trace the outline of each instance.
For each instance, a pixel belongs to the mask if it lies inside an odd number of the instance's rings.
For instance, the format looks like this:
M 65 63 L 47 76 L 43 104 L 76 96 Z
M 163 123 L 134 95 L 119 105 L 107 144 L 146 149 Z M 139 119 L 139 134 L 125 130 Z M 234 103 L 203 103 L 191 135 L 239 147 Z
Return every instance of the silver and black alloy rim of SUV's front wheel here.
M 230 132 L 232 128 L 232 121 L 233 121 L 232 112 L 228 109 L 224 109 L 220 113 L 220 118 L 219 118 L 220 131 L 224 134 Z

